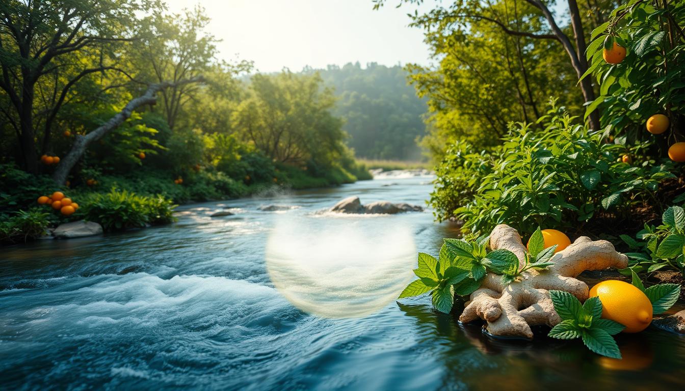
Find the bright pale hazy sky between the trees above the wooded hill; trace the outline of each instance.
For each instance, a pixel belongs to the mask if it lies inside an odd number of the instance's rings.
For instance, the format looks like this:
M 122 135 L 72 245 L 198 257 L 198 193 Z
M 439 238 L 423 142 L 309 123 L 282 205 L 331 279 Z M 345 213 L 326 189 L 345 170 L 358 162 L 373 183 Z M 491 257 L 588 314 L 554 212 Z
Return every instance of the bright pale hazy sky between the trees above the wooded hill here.
M 407 27 L 416 6 L 388 0 L 165 0 L 169 9 L 202 5 L 221 58 L 252 60 L 262 72 L 347 62 L 428 63 L 423 31 Z M 432 3 L 432 2 L 428 2 Z M 423 8 L 427 8 L 423 5 Z

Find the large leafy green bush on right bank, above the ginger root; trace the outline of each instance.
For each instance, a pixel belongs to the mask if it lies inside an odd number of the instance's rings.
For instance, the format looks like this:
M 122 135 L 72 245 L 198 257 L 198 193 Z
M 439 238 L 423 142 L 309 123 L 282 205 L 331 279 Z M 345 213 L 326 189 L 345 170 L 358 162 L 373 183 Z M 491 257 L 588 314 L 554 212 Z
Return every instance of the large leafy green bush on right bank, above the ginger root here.
M 671 163 L 621 162 L 628 152 L 621 140 L 607 143 L 574 121 L 553 108 L 538 121 L 542 129 L 512 125 L 490 153 L 451 146 L 431 194 L 437 218 L 461 219 L 475 235 L 500 223 L 525 235 L 538 226 L 576 227 L 597 214 L 630 218 L 638 203 L 656 203 L 660 181 L 675 177 Z

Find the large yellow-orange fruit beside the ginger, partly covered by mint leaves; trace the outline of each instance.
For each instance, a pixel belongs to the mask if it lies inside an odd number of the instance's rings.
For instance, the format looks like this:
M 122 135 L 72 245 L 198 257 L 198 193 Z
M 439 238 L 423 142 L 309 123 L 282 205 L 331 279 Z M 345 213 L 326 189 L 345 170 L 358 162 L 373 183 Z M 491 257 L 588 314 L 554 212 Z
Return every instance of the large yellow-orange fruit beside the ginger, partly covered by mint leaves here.
M 601 281 L 590 289 L 589 297 L 599 297 L 601 317 L 625 326 L 625 333 L 643 331 L 651 323 L 653 309 L 645 292 L 616 279 Z

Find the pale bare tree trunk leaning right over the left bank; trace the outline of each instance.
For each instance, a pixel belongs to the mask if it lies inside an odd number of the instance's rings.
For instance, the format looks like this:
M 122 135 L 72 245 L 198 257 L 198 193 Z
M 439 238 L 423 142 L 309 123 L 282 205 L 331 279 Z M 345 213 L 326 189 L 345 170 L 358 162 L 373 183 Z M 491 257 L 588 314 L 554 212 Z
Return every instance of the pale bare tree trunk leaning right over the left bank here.
M 88 146 L 92 144 L 92 142 L 100 140 L 103 138 L 103 136 L 105 136 L 105 134 L 108 134 L 110 131 L 112 131 L 112 129 L 115 129 L 117 126 L 121 125 L 124 121 L 131 117 L 131 114 L 134 112 L 134 110 L 136 110 L 136 108 L 139 108 L 142 105 L 155 103 L 157 101 L 157 97 L 155 96 L 157 92 L 169 87 L 177 87 L 184 84 L 199 83 L 202 81 L 204 81 L 202 76 L 196 76 L 192 77 L 192 79 L 179 80 L 175 83 L 171 81 L 163 81 L 162 83 L 151 84 L 147 88 L 147 91 L 145 91 L 145 94 L 131 99 L 129 103 L 126 103 L 121 112 L 110 118 L 110 121 L 107 121 L 94 131 L 86 134 L 86 136 L 77 135 L 74 144 L 71 147 L 71 151 L 69 151 L 69 153 L 67 153 L 66 156 L 60 160 L 60 164 L 58 164 L 57 168 L 55 168 L 55 172 L 52 175 L 53 181 L 60 185 L 64 184 L 66 177 L 71 171 L 71 168 L 73 168 L 79 159 L 81 159 L 81 156 L 86 152 L 86 149 L 88 149 Z

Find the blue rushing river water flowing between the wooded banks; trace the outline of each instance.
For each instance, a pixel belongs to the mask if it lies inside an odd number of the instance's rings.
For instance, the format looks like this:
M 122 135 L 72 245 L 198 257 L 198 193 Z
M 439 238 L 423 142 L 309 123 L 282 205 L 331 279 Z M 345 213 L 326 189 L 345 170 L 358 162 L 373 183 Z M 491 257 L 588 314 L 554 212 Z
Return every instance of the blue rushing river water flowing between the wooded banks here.
M 395 301 L 416 251 L 458 229 L 429 211 L 321 210 L 350 195 L 423 205 L 431 179 L 184 205 L 173 225 L 3 248 L 0 389 L 682 389 L 685 337 L 654 327 L 617 336 L 619 362 Z

